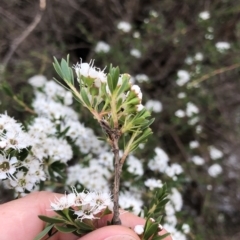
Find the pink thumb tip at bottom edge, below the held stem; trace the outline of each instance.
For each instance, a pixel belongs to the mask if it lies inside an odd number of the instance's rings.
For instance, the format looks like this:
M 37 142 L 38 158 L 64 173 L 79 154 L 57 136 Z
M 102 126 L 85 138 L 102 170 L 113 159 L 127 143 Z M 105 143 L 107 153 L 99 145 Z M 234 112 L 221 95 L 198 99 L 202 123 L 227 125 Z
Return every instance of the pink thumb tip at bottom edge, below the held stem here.
M 79 240 L 140 240 L 138 235 L 124 226 L 106 226 L 99 228 Z

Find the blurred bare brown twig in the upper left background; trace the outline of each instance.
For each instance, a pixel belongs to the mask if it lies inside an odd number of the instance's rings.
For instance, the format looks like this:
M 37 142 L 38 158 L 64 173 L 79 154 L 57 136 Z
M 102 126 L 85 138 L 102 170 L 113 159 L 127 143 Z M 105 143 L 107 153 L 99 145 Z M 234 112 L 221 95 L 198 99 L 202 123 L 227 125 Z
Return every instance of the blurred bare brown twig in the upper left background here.
M 40 11 L 35 16 L 33 22 L 25 29 L 25 31 L 23 31 L 23 33 L 20 36 L 18 36 L 12 41 L 10 50 L 7 52 L 7 54 L 3 58 L 3 62 L 2 62 L 3 71 L 5 70 L 8 62 L 10 61 L 11 57 L 13 56 L 18 46 L 27 38 L 27 36 L 36 28 L 38 23 L 41 21 L 42 15 L 45 9 L 46 9 L 46 0 L 39 0 Z

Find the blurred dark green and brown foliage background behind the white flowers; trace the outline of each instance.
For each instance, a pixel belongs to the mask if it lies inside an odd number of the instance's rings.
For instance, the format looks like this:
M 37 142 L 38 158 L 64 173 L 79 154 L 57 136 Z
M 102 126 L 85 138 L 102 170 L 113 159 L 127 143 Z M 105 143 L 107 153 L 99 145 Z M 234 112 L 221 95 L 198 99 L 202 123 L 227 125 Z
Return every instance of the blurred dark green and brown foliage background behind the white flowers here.
M 199 18 L 203 11 L 210 13 L 210 19 Z M 38 1 L 1 1 L 1 69 L 14 41 L 38 12 Z M 152 146 L 161 146 L 172 162 L 184 167 L 190 184 L 183 184 L 186 208 L 183 219 L 192 222 L 191 239 L 239 239 L 239 14 L 237 0 L 47 1 L 40 23 L 18 46 L 1 72 L 0 81 L 7 81 L 15 93 L 30 103 L 32 93 L 27 79 L 36 74 L 49 79 L 56 76 L 52 57 L 60 59 L 67 54 L 71 55 L 72 63 L 79 58 L 87 62 L 95 59 L 96 66 L 102 68 L 112 63 L 133 76 L 146 74 L 150 81 L 140 84 L 144 100 L 161 101 L 163 111 L 155 114 L 154 137 L 139 154 L 149 159 Z M 120 21 L 131 23 L 132 30 L 124 33 L 117 29 Z M 139 38 L 133 36 L 136 31 Z M 95 53 L 99 41 L 107 42 L 110 52 Z M 220 41 L 230 43 L 231 48 L 219 53 L 215 44 Z M 142 56 L 131 56 L 132 48 L 139 49 Z M 203 61 L 187 65 L 185 59 L 198 52 L 203 54 Z M 179 69 L 193 73 L 191 81 L 200 82 L 198 87 L 178 87 Z M 177 98 L 182 91 L 187 94 L 184 100 Z M 19 111 L 19 106 L 3 93 L 0 101 L 0 112 L 7 110 L 16 119 L 25 118 L 24 111 Z M 189 101 L 200 109 L 201 134 L 196 134 L 188 119 L 174 115 Z M 81 117 L 83 121 L 89 118 L 86 110 L 81 109 Z M 88 120 L 86 124 L 93 126 L 94 122 Z M 218 179 L 206 175 L 204 166 L 189 165 L 189 142 L 194 139 L 201 143 L 197 154 L 206 162 L 210 161 L 210 145 L 225 153 L 224 172 Z M 209 184 L 212 191 L 206 188 Z

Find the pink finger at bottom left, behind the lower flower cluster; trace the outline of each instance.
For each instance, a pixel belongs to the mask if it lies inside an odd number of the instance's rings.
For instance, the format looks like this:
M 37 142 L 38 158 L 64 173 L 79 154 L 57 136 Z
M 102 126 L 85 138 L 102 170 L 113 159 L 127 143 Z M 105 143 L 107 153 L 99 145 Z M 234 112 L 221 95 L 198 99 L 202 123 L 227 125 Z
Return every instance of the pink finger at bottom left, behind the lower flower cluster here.
M 50 210 L 50 203 L 60 194 L 50 192 L 35 192 L 21 199 L 0 205 L 1 240 L 32 240 L 44 228 L 45 223 L 38 215 L 54 216 Z M 72 234 L 56 234 L 53 240 L 74 240 Z

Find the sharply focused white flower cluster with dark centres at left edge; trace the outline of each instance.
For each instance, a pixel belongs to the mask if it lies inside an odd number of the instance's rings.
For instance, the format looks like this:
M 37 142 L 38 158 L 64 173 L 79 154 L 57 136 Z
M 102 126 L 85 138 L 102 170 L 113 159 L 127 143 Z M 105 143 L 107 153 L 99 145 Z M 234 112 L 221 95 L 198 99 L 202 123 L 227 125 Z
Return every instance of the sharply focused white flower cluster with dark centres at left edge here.
M 5 180 L 5 187 L 19 193 L 32 191 L 37 183 L 46 180 L 42 163 L 36 157 L 30 153 L 24 160 L 20 159 L 22 151 L 31 147 L 32 142 L 33 138 L 21 124 L 0 114 L 0 179 Z

